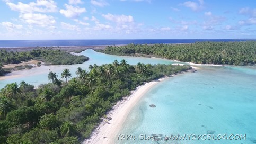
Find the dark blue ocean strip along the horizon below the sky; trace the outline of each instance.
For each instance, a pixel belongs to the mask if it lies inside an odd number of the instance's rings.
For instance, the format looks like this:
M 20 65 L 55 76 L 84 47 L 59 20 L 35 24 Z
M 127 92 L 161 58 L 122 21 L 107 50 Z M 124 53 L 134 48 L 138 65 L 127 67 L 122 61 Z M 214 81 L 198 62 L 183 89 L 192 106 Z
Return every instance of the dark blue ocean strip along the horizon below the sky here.
M 198 41 L 248 41 L 255 39 L 136 39 L 136 40 L 0 40 L 0 48 L 96 46 L 114 44 L 194 43 Z

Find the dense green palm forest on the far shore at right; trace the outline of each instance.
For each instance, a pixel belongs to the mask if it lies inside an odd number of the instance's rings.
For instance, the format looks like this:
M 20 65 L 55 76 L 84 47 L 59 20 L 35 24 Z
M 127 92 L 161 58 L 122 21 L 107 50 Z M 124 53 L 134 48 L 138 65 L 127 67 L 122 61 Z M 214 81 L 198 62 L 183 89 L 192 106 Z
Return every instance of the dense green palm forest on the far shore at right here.
M 250 65 L 256 63 L 256 41 L 196 42 L 191 44 L 128 44 L 98 50 L 111 55 L 153 55 L 196 64 Z

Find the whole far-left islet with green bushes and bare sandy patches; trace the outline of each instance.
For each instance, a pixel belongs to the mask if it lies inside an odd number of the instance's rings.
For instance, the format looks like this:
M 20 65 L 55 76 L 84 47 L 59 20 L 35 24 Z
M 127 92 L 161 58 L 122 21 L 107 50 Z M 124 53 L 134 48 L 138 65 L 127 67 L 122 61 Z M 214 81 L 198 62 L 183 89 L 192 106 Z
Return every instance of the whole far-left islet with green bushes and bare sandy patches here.
M 78 51 L 79 52 L 79 51 Z M 42 65 L 73 65 L 82 64 L 89 60 L 86 56 L 76 56 L 72 53 L 60 49 L 52 48 L 37 48 L 31 51 L 7 51 L 5 49 L 0 50 L 0 76 L 10 73 L 13 70 L 30 69 L 33 66 L 26 64 L 26 62 L 35 60 L 37 66 Z M 7 64 L 19 64 L 13 67 L 4 68 Z

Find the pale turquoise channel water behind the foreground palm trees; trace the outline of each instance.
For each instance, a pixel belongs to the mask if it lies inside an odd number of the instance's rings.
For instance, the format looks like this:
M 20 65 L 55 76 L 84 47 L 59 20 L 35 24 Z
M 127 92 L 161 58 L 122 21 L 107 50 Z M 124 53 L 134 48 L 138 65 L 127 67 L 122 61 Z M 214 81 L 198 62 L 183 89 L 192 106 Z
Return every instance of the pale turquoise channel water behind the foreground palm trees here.
M 80 53 L 81 55 L 88 56 L 90 59 L 89 61 L 84 62 L 83 64 L 77 64 L 77 65 L 70 65 L 70 66 L 41 66 L 37 68 L 32 68 L 29 70 L 19 70 L 15 71 L 8 75 L 22 75 L 22 77 L 12 78 L 12 79 L 6 79 L 6 80 L 0 80 L 0 88 L 3 88 L 6 84 L 9 83 L 20 83 L 22 80 L 25 82 L 32 84 L 34 86 L 38 86 L 39 84 L 43 83 L 49 83 L 48 80 L 48 74 L 50 71 L 55 72 L 60 78 L 61 71 L 65 68 L 70 69 L 70 73 L 72 73 L 72 76 L 75 77 L 75 71 L 78 67 L 81 67 L 83 69 L 88 70 L 89 65 L 97 64 L 109 64 L 112 63 L 114 60 L 121 61 L 121 59 L 126 59 L 129 64 L 137 64 L 138 62 L 143 62 L 145 64 L 172 64 L 172 63 L 178 63 L 171 60 L 165 60 L 165 59 L 158 59 L 158 58 L 139 58 L 139 57 L 126 57 L 126 56 L 112 56 L 112 55 L 105 55 L 103 53 L 96 52 L 92 49 L 87 49 Z M 182 63 L 182 62 L 180 62 Z M 63 79 L 65 81 L 65 79 Z

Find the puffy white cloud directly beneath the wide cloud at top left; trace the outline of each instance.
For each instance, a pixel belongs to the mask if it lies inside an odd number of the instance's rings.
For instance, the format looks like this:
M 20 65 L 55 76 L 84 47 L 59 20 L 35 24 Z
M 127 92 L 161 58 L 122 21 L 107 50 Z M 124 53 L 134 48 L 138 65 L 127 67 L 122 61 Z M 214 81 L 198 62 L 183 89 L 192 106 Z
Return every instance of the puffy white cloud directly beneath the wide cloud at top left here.
M 56 23 L 54 17 L 46 14 L 26 13 L 26 14 L 20 14 L 19 17 L 21 20 L 24 20 L 28 24 L 38 25 L 42 27 L 50 26 Z

